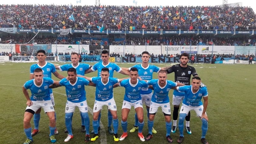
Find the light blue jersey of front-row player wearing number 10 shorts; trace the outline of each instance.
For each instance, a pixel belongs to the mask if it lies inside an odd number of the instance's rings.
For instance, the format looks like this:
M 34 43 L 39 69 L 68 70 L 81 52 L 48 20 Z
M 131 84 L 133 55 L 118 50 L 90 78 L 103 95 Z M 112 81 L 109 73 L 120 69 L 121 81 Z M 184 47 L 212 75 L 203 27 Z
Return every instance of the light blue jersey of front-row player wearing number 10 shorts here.
M 77 81 L 74 84 L 71 84 L 67 78 L 63 78 L 60 81 L 60 85 L 66 87 L 68 101 L 73 103 L 79 103 L 86 100 L 84 85 L 88 85 L 89 83 L 90 82 L 83 77 L 77 77 Z

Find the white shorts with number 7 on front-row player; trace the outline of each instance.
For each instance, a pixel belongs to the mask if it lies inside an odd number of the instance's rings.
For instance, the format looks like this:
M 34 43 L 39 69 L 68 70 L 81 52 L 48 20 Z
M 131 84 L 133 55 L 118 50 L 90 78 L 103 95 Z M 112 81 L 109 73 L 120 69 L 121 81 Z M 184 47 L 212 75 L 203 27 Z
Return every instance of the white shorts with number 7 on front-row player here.
M 162 112 L 164 112 L 165 114 L 171 114 L 170 103 L 159 104 L 159 103 L 154 103 L 154 102 L 151 102 L 151 104 L 150 104 L 149 114 L 156 113 L 158 107 L 161 107 L 162 108 Z

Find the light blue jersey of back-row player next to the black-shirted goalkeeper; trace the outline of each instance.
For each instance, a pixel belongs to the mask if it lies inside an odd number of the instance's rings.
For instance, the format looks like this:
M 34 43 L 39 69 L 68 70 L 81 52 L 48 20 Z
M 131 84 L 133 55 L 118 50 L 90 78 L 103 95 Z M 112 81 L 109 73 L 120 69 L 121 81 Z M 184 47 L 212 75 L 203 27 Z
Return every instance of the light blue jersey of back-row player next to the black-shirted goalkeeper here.
M 133 66 L 133 68 L 138 69 L 138 74 L 143 80 L 152 80 L 153 79 L 153 72 L 159 72 L 161 70 L 160 67 L 157 67 L 155 65 L 149 65 L 147 68 L 143 68 L 142 64 L 138 64 Z M 130 70 L 131 68 L 129 68 Z M 142 88 L 141 94 L 150 94 L 152 92 L 149 88 Z

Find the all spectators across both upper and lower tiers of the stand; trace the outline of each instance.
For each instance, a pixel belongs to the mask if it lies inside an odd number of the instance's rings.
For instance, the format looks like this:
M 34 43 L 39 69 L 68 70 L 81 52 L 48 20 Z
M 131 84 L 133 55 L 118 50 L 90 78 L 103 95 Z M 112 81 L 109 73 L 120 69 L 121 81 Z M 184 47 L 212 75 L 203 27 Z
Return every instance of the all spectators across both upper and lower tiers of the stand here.
M 19 28 L 80 28 L 97 29 L 256 29 L 255 13 L 250 7 L 218 6 L 78 6 L 78 5 L 0 5 L 0 27 Z M 75 21 L 71 20 L 71 15 Z M 25 34 L 1 36 L 2 41 L 36 44 L 78 44 L 75 35 L 36 36 Z M 86 40 L 88 41 L 88 40 Z M 252 37 L 219 36 L 143 36 L 127 35 L 124 41 L 91 43 L 92 45 L 224 45 L 255 46 Z M 6 41 L 5 43 L 9 43 Z M 86 43 L 86 42 L 85 42 Z M 79 43 L 79 44 L 85 44 Z M 87 42 L 88 44 L 88 42 Z

